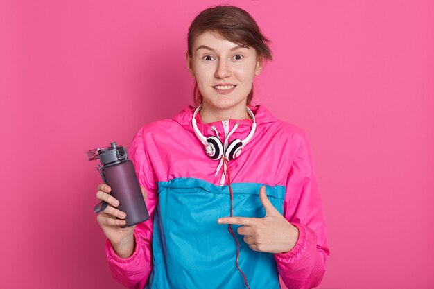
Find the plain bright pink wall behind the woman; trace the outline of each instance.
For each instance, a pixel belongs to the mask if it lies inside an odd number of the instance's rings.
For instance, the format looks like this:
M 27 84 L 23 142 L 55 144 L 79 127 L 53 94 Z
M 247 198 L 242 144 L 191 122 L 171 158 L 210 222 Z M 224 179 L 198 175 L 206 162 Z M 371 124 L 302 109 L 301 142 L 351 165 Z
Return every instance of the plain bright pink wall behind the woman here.
M 85 151 L 191 103 L 186 32 L 216 3 L 1 1 L 1 288 L 121 288 Z M 225 3 L 272 40 L 254 103 L 311 140 L 319 288 L 434 288 L 433 1 Z

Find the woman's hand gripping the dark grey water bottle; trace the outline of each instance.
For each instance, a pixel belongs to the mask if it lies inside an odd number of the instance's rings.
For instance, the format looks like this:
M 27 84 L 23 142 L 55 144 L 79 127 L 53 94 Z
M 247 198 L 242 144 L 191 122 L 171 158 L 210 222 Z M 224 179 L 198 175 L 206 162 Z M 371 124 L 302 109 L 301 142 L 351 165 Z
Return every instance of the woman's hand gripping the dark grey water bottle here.
M 116 200 L 112 195 L 110 195 L 110 191 L 112 188 L 107 186 L 107 184 L 99 184 L 98 191 L 96 192 L 96 198 L 100 201 L 105 201 L 109 205 L 98 213 L 96 220 L 98 221 L 98 225 L 100 225 L 101 229 L 105 236 L 112 243 L 114 252 L 118 254 L 121 258 L 128 258 L 134 252 L 134 228 L 137 225 L 132 225 L 130 227 L 121 228 L 120 226 L 125 225 L 125 217 L 126 214 L 119 209 L 116 209 L 119 206 L 119 201 Z M 141 187 L 141 193 L 144 195 L 144 199 L 146 200 L 146 191 L 144 187 Z

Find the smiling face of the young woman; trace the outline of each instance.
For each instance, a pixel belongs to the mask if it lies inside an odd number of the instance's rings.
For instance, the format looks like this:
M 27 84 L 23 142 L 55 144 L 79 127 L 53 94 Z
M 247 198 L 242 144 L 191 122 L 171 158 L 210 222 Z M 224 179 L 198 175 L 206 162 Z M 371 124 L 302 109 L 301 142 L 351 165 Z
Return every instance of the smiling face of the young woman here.
M 257 52 L 220 35 L 205 32 L 193 41 L 189 71 L 196 78 L 203 103 L 209 109 L 245 110 L 255 75 L 261 73 Z

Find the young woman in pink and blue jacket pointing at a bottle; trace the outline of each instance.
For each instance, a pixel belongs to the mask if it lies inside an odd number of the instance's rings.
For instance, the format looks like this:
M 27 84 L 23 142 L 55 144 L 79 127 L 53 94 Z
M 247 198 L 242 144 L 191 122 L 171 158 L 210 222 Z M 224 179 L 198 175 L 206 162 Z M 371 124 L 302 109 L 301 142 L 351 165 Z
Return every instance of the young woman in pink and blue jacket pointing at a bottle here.
M 329 256 L 311 147 L 300 128 L 250 105 L 268 40 L 241 8 L 194 19 L 187 67 L 196 107 L 144 125 L 129 148 L 150 220 L 98 213 L 114 278 L 128 288 L 318 286 Z

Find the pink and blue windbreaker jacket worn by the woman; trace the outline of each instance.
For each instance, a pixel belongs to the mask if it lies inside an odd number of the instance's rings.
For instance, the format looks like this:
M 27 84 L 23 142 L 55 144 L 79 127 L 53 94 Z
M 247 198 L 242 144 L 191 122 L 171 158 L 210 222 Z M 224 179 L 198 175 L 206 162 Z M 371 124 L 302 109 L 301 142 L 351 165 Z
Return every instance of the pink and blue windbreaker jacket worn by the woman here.
M 229 161 L 234 192 L 234 216 L 265 216 L 259 189 L 266 186 L 273 206 L 298 228 L 290 252 L 256 252 L 232 229 L 240 244 L 238 265 L 251 289 L 279 286 L 289 289 L 318 286 L 329 257 L 318 179 L 306 134 L 295 125 L 275 119 L 263 105 L 250 106 L 257 130 L 241 155 Z M 110 240 L 105 251 L 112 276 L 127 288 L 246 288 L 236 270 L 236 243 L 227 225 L 217 219 L 230 215 L 229 186 L 216 175 L 218 161 L 210 159 L 193 132 L 194 107 L 173 119 L 141 127 L 128 149 L 139 183 L 147 193 L 150 219 L 134 229 L 132 256 L 116 255 Z M 239 126 L 228 141 L 245 139 L 250 119 L 202 123 L 205 136 L 223 137 Z

